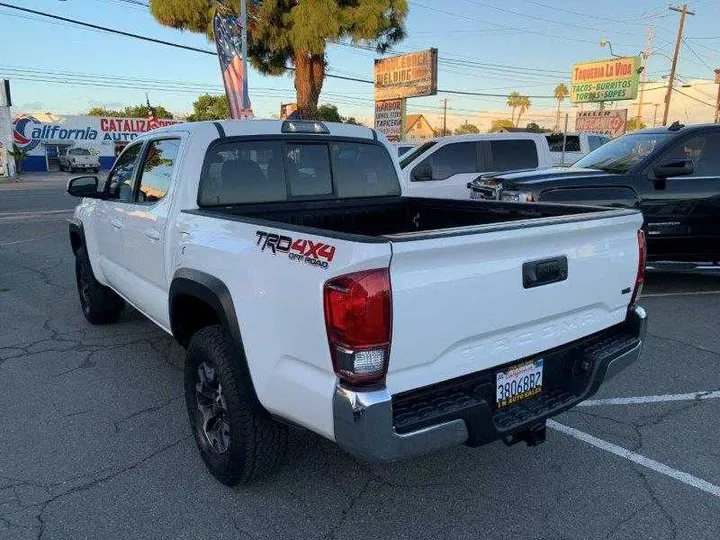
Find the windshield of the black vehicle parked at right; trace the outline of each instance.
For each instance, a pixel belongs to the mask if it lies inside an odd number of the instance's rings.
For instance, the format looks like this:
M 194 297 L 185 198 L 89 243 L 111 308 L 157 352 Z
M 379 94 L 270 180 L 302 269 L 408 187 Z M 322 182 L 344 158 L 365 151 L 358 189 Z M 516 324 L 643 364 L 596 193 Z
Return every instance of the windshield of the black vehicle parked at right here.
M 609 173 L 626 173 L 668 138 L 670 133 L 637 133 L 625 135 L 593 150 L 577 161 L 573 168 L 597 169 Z

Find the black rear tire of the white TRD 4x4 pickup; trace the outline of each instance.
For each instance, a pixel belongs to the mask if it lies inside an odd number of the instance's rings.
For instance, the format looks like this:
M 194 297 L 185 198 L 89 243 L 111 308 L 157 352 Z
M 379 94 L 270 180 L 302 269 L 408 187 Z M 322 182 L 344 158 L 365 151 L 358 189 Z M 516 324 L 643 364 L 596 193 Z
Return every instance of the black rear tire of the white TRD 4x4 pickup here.
M 222 388 L 223 418 L 229 425 L 229 444 L 219 453 L 203 429 L 196 385 L 198 368 L 211 365 Z M 221 326 L 207 326 L 190 339 L 185 361 L 185 404 L 200 456 L 223 484 L 249 484 L 270 475 L 287 451 L 288 428 L 273 420 L 252 389 L 242 351 Z

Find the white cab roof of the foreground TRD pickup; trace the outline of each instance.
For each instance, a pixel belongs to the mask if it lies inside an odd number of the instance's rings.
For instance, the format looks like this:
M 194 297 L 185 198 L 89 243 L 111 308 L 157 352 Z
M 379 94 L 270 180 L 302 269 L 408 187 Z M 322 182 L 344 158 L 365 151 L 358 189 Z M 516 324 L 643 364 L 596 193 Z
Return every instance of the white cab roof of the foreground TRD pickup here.
M 290 120 L 292 122 L 293 120 Z M 205 122 L 183 122 L 154 129 L 149 133 L 171 133 L 174 131 L 196 132 L 212 129 L 217 131 L 220 125 L 226 136 L 243 135 L 283 135 L 282 126 L 286 120 L 217 120 Z M 299 122 L 303 122 L 299 120 Z M 306 121 L 307 122 L 307 121 Z M 374 129 L 355 124 L 338 122 L 321 122 L 336 137 L 354 137 L 360 139 L 377 139 L 379 135 Z

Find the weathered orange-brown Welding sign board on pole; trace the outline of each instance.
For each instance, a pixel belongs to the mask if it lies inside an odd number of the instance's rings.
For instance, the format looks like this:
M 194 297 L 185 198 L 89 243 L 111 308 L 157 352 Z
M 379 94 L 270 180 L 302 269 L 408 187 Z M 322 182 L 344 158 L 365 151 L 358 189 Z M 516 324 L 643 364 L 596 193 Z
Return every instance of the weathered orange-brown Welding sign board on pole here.
M 375 60 L 375 101 L 437 94 L 437 49 Z

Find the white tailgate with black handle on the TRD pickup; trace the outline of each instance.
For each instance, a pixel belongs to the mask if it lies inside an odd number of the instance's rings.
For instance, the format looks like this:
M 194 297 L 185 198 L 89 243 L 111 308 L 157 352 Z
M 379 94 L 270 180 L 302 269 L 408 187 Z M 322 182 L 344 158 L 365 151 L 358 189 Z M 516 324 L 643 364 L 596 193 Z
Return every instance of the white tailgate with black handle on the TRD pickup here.
M 577 217 L 390 237 L 390 392 L 506 364 L 622 322 L 642 216 Z M 547 277 L 543 268 L 554 272 L 563 257 L 565 279 L 561 272 L 558 281 L 526 287 L 537 282 L 524 282 L 524 265 Z

